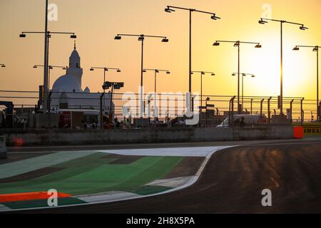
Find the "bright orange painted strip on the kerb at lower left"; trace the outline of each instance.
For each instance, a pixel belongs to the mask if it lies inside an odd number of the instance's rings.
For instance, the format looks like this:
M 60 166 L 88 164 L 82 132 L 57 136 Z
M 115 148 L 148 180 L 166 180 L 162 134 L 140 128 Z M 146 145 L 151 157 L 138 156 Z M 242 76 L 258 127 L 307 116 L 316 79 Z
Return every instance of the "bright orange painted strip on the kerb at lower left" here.
M 47 192 L 25 192 L 25 193 L 4 194 L 4 195 L 0 195 L 0 203 L 34 200 L 34 199 L 48 199 L 49 197 L 51 197 L 51 195 L 48 195 Z M 71 195 L 58 192 L 57 197 L 64 198 L 64 197 L 71 197 Z

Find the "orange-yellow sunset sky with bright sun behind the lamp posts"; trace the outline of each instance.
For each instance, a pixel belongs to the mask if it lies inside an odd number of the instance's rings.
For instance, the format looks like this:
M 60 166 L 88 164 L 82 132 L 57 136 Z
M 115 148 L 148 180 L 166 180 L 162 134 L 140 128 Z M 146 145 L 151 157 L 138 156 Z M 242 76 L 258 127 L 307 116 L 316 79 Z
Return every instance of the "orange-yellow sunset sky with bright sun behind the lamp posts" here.
M 44 31 L 44 0 L 0 1 L 0 90 L 38 90 L 43 71 L 44 36 L 19 38 L 21 31 Z M 113 38 L 117 33 L 168 36 L 169 43 L 146 39 L 145 68 L 170 70 L 160 73 L 158 92 L 188 90 L 188 11 L 165 13 L 167 5 L 210 11 L 222 19 L 193 14 L 193 70 L 214 71 L 204 76 L 203 93 L 235 95 L 238 52 L 233 43 L 215 40 L 260 42 L 263 48 L 241 46 L 241 72 L 254 73 L 245 78 L 245 95 L 280 93 L 280 24 L 258 24 L 263 4 L 272 6 L 273 19 L 285 19 L 309 28 L 284 25 L 284 95 L 315 99 L 316 53 L 312 48 L 292 51 L 295 45 L 321 45 L 320 0 L 52 0 L 58 6 L 58 21 L 49 22 L 49 31 L 72 31 L 78 36 L 77 50 L 83 68 L 83 88 L 101 91 L 102 71 L 91 66 L 121 68 L 122 73 L 108 72 L 107 80 L 123 81 L 121 91 L 137 92 L 140 84 L 141 43 L 137 38 Z M 50 43 L 51 65 L 66 66 L 73 50 L 69 36 L 53 35 Z M 51 71 L 51 86 L 64 71 Z M 144 78 L 146 92 L 153 90 L 153 73 Z M 193 75 L 193 90 L 200 89 L 200 76 Z

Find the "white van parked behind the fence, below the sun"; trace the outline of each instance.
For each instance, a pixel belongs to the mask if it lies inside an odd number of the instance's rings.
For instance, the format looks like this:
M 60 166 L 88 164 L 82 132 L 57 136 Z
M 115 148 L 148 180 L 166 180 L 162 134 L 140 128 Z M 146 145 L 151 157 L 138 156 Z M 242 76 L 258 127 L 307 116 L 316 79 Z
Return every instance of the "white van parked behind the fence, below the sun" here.
M 258 123 L 267 123 L 267 118 L 265 117 L 265 115 L 261 117 L 261 115 L 259 114 L 255 114 L 255 115 L 245 115 L 245 114 L 238 115 L 237 114 L 237 115 L 234 115 L 234 125 L 239 126 L 241 118 L 244 118 L 245 127 L 252 127 L 253 125 Z M 220 125 L 218 125 L 216 128 L 228 128 L 228 126 L 229 126 L 229 120 L 228 118 L 225 118 L 225 120 L 223 120 L 223 122 L 220 123 Z

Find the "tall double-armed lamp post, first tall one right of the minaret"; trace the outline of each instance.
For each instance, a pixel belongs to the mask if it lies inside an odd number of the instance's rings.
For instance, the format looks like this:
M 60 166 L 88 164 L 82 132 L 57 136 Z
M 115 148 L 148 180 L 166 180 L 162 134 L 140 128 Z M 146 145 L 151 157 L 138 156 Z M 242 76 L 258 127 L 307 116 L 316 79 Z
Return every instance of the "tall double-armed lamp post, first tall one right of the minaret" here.
M 138 41 L 141 41 L 141 107 L 140 107 L 140 115 L 143 118 L 143 53 L 144 53 L 144 40 L 145 38 L 161 38 L 163 43 L 168 43 L 167 36 L 150 36 L 150 35 L 136 35 L 136 34 L 117 34 L 115 36 L 115 40 L 121 40 L 123 36 L 133 36 L 138 37 Z

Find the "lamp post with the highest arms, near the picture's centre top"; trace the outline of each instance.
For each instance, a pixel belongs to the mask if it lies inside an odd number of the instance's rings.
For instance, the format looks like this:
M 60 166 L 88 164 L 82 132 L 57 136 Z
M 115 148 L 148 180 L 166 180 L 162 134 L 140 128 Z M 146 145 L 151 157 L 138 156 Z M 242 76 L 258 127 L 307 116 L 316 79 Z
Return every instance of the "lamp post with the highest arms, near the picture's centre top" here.
M 220 17 L 216 16 L 214 13 L 207 12 L 207 11 L 200 11 L 198 9 L 188 9 L 188 8 L 183 8 L 183 7 L 178 7 L 178 6 L 167 6 L 165 9 L 165 12 L 171 13 L 175 12 L 175 9 L 179 10 L 184 10 L 184 11 L 189 11 L 190 13 L 190 19 L 189 19 L 189 58 L 188 58 L 188 65 L 189 65 L 189 76 L 188 76 L 188 92 L 190 93 L 190 97 L 192 95 L 192 12 L 198 12 L 202 14 L 210 14 L 210 19 L 213 20 L 218 20 Z M 190 105 L 192 103 L 190 102 Z M 192 107 L 189 107 L 190 110 L 192 110 Z

